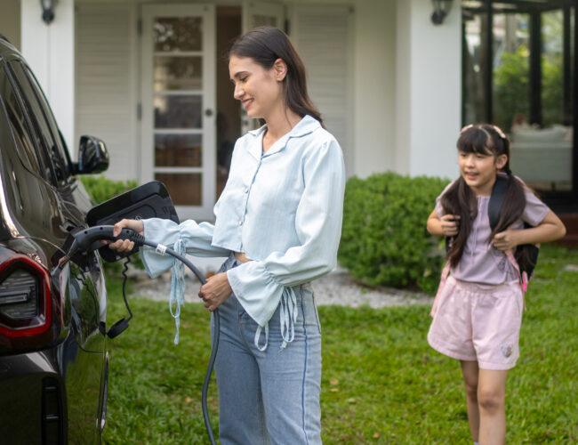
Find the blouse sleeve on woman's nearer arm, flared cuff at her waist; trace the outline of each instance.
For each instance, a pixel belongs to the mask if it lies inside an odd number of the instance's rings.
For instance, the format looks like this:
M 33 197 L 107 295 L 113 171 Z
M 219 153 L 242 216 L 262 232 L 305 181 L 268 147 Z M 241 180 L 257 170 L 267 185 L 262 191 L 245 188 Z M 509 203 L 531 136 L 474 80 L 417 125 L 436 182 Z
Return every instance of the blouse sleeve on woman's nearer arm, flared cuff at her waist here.
M 301 244 L 227 271 L 237 299 L 261 327 L 277 309 L 285 287 L 317 279 L 336 264 L 345 190 L 339 144 L 333 140 L 315 150 L 303 161 L 303 175 L 305 188 L 295 214 Z

